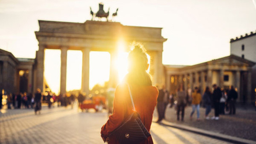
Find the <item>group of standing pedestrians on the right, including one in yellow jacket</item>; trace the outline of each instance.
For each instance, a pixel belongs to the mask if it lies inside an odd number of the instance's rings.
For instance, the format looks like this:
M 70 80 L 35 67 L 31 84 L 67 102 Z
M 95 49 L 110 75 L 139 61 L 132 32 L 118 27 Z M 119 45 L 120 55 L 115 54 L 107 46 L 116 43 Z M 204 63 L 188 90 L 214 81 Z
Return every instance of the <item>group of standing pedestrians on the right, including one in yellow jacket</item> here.
M 157 86 L 159 89 L 159 87 Z M 165 118 L 165 111 L 167 105 L 170 103 L 170 108 L 175 106 L 177 113 L 177 121 L 184 121 L 185 108 L 188 105 L 192 106 L 190 113 L 190 120 L 193 119 L 193 114 L 196 111 L 196 121 L 200 121 L 200 108 L 205 108 L 205 119 L 219 120 L 219 115 L 236 114 L 236 99 L 238 93 L 233 86 L 230 89 L 221 89 L 216 84 L 212 85 L 212 91 L 207 86 L 201 95 L 201 91 L 198 87 L 193 89 L 193 92 L 186 92 L 183 85 L 180 84 L 175 94 L 169 93 L 165 86 L 159 89 L 159 95 L 157 98 L 157 112 L 158 120 L 160 123 Z M 190 90 L 191 91 L 191 90 Z M 212 108 L 214 109 L 214 115 L 209 117 L 209 113 Z M 181 117 L 181 118 L 180 118 Z

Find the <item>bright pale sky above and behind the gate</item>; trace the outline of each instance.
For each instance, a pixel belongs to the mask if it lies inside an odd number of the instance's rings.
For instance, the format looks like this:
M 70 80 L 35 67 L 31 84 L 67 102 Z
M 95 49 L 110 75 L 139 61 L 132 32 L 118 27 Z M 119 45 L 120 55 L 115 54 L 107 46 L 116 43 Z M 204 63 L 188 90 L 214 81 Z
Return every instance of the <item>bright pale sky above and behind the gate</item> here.
M 122 25 L 163 28 L 162 36 L 168 39 L 163 64 L 193 65 L 230 55 L 231 38 L 256 32 L 253 0 L 0 0 L 0 49 L 18 58 L 35 58 L 38 20 L 84 23 L 91 19 L 90 6 L 97 12 L 101 2 L 105 11 L 110 7 L 111 15 L 119 8 L 113 20 Z M 48 53 L 52 55 L 47 57 L 60 55 Z M 81 59 L 79 52 L 69 55 Z M 90 53 L 99 60 L 97 55 L 101 54 Z

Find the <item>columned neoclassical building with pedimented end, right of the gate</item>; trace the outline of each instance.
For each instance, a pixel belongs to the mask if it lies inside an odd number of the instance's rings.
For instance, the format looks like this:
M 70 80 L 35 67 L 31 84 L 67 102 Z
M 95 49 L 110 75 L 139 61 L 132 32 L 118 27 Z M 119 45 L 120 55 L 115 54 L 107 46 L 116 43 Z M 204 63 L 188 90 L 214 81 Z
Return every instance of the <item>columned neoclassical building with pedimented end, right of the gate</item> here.
M 212 87 L 217 84 L 223 89 L 230 85 L 236 87 L 239 102 L 255 102 L 252 92 L 252 67 L 254 62 L 230 55 L 227 57 L 199 63 L 193 66 L 165 65 L 166 87 L 175 93 L 178 86 L 183 84 L 184 89 L 194 89 L 195 86 L 204 92 L 206 86 Z

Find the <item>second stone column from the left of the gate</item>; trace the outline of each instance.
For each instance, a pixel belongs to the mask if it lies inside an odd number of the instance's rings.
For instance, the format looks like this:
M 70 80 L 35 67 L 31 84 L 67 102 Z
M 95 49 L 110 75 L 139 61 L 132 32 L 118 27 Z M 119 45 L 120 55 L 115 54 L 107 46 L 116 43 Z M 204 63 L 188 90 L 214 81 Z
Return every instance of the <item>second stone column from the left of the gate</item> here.
M 61 94 L 66 93 L 67 84 L 67 46 L 61 47 Z

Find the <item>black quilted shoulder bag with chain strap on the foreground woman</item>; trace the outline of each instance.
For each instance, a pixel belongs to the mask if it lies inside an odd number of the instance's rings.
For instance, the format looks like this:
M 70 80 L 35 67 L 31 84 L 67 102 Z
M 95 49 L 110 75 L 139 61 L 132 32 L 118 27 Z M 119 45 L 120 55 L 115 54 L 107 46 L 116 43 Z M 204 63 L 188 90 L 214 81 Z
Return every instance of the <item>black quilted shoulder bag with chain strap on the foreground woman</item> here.
M 140 114 L 135 110 L 134 101 L 131 95 L 131 88 L 128 84 L 128 90 L 131 97 L 133 113 L 126 118 L 123 123 L 111 132 L 108 137 L 115 135 L 120 144 L 137 144 L 147 139 L 150 133 L 145 128 L 140 119 Z

